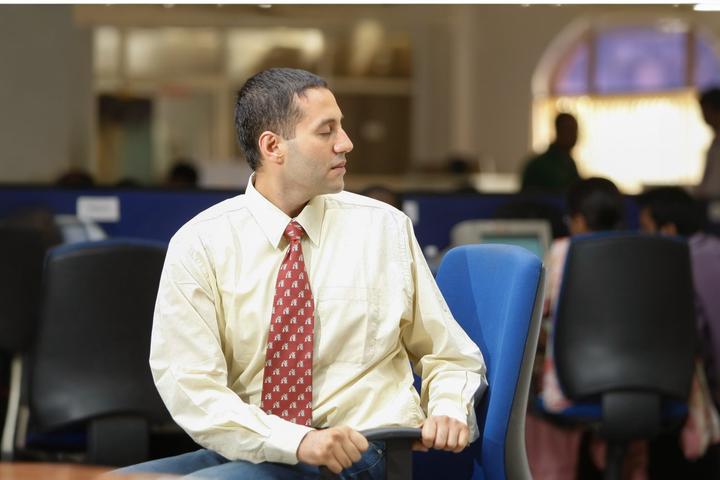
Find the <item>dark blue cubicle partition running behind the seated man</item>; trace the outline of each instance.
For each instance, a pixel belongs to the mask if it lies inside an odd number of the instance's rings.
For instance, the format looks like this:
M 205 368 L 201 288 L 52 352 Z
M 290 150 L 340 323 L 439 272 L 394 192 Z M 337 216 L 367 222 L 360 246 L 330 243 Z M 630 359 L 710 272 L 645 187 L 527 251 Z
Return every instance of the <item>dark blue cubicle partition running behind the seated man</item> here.
M 153 188 L 67 189 L 41 186 L 0 186 L 0 217 L 28 207 L 44 207 L 55 214 L 77 213 L 78 197 L 117 199 L 117 221 L 97 223 L 111 237 L 136 237 L 167 242 L 180 226 L 202 210 L 242 193 L 230 190 L 167 190 Z M 407 193 L 405 205 L 413 219 L 421 247 L 444 249 L 452 227 L 463 220 L 497 218 L 498 208 L 513 202 L 550 206 L 561 216 L 560 196 Z M 627 197 L 629 228 L 637 227 L 637 207 Z M 412 211 L 411 211 L 412 210 Z M 521 217 L 514 217 L 521 218 Z

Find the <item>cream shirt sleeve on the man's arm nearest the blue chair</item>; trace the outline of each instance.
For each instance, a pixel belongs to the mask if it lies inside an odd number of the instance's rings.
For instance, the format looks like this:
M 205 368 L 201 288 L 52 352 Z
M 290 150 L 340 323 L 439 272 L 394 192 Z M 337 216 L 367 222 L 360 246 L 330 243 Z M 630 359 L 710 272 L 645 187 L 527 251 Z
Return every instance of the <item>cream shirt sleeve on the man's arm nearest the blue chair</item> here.
M 422 407 L 428 416 L 447 415 L 467 424 L 472 441 L 479 436 L 475 402 L 487 387 L 485 362 L 450 313 L 409 219 L 405 229 L 414 295 L 402 340 L 415 372 L 422 377 Z

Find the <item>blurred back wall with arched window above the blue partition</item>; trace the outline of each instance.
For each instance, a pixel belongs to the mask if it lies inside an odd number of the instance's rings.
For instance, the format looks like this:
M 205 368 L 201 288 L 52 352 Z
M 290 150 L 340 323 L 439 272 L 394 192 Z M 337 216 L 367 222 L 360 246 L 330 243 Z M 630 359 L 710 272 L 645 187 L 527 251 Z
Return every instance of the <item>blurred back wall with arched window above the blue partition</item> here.
M 692 5 L 3 5 L 0 182 L 151 185 L 192 159 L 242 187 L 234 95 L 270 66 L 326 77 L 347 182 L 513 192 L 572 112 L 582 176 L 625 193 L 699 182 L 720 15 Z M 456 169 L 457 171 L 457 169 Z

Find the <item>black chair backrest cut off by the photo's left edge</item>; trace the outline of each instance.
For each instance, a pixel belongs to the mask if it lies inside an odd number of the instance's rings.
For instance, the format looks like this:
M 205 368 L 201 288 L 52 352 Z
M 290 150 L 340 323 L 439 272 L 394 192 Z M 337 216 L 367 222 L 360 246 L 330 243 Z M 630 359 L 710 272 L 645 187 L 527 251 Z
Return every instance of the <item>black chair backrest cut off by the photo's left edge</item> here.
M 42 232 L 0 227 L 0 351 L 26 351 L 35 334 L 46 243 Z

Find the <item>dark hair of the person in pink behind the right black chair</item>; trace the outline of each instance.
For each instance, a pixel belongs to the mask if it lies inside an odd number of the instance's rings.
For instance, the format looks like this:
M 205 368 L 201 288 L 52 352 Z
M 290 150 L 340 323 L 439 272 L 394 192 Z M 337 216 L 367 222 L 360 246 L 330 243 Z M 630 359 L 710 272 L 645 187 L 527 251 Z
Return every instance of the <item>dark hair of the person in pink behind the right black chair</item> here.
M 622 194 L 607 178 L 578 180 L 567 193 L 570 215 L 582 215 L 590 231 L 618 230 L 624 226 Z

